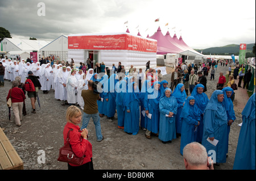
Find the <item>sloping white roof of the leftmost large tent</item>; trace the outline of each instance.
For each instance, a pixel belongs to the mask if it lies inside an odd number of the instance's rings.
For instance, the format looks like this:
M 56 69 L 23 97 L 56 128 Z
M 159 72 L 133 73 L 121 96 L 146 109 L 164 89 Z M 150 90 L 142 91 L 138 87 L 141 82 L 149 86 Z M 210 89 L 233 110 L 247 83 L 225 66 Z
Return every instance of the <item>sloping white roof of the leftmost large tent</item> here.
M 26 40 L 26 39 L 11 39 L 5 38 L 6 40 L 10 41 L 10 43 L 14 44 L 20 50 L 37 50 L 39 51 L 40 48 L 43 48 L 51 41 L 45 40 Z M 3 40 L 4 41 L 4 40 Z

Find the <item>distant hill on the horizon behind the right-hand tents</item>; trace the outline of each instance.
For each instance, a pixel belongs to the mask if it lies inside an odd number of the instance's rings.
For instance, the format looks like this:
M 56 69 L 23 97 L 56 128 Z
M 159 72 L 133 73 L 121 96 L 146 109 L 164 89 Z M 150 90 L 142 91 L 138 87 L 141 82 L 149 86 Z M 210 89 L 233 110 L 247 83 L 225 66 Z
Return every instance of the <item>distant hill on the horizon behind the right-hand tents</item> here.
M 247 44 L 246 53 L 252 53 L 253 52 L 253 46 L 254 43 Z M 206 48 L 206 49 L 195 49 L 197 52 L 201 53 L 203 50 L 203 54 L 218 54 L 218 55 L 231 55 L 234 54 L 236 56 L 239 55 L 240 45 L 231 44 L 226 45 L 224 47 L 212 47 L 212 48 Z

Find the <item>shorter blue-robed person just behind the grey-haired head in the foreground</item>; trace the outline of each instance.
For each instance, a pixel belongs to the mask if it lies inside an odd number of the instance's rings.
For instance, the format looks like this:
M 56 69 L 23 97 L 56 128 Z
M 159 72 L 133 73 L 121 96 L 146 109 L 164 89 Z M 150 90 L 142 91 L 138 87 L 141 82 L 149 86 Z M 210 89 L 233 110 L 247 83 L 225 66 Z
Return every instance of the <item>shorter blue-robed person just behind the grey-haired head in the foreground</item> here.
M 200 125 L 201 110 L 195 103 L 193 96 L 189 96 L 181 111 L 180 118 L 182 119 L 180 154 L 183 155 L 183 149 L 187 144 L 196 141 L 196 130 Z

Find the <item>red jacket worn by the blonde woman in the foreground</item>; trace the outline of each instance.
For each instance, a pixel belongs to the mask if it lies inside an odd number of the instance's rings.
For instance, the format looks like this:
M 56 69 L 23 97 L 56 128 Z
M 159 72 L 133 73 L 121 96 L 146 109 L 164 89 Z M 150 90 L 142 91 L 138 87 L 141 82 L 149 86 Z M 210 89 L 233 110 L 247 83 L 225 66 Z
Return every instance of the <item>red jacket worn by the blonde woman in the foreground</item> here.
M 88 140 L 85 140 L 81 136 L 81 131 L 78 125 L 75 125 L 73 123 L 67 123 L 63 130 L 63 138 L 64 138 L 64 144 L 67 142 L 67 136 L 68 131 L 70 129 L 73 129 L 73 131 L 69 132 L 69 142 L 71 144 L 71 148 L 73 152 L 76 154 L 77 157 L 84 157 L 84 162 L 82 164 L 88 163 L 91 161 L 90 158 L 92 158 L 92 144 Z M 73 165 L 72 163 L 69 163 L 71 166 L 77 166 Z

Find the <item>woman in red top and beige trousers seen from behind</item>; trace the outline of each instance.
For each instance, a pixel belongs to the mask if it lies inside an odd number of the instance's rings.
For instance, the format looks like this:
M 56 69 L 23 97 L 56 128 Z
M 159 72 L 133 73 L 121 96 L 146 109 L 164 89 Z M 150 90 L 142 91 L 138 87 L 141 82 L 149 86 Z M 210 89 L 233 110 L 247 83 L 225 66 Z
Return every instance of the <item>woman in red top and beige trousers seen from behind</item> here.
M 13 88 L 9 90 L 6 101 L 11 97 L 11 107 L 13 107 L 15 123 L 18 127 L 20 127 L 20 121 L 22 121 L 23 102 L 25 101 L 26 97 L 23 90 L 19 89 L 18 86 L 19 82 L 13 81 Z

